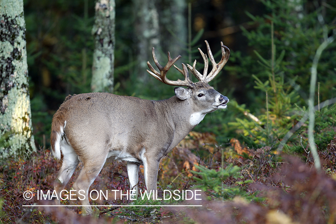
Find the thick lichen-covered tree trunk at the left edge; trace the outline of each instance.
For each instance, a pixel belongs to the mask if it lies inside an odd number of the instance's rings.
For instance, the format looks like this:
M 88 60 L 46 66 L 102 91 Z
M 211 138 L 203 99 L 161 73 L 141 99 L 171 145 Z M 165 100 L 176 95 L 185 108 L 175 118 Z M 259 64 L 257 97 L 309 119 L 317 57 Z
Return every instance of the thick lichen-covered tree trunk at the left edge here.
M 36 151 L 23 0 L 0 1 L 0 158 Z

